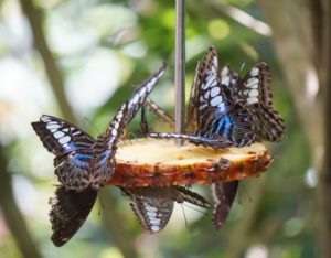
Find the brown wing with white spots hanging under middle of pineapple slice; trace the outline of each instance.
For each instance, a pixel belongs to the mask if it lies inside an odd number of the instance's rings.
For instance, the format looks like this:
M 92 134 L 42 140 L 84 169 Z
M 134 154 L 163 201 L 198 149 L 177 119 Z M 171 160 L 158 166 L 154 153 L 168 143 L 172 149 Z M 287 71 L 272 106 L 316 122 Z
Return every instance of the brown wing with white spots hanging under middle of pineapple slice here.
M 162 230 L 173 211 L 173 196 L 168 187 L 121 189 L 142 227 L 151 234 Z

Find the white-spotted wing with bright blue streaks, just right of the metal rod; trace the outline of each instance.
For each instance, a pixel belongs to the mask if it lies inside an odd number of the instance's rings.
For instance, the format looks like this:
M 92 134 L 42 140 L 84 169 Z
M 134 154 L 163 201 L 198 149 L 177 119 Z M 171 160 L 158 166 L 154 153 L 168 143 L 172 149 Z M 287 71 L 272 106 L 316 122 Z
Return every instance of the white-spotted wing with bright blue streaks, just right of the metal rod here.
M 253 115 L 235 100 L 233 92 L 220 82 L 216 74 L 205 72 L 199 100 L 200 136 L 222 137 L 238 147 L 255 141 Z

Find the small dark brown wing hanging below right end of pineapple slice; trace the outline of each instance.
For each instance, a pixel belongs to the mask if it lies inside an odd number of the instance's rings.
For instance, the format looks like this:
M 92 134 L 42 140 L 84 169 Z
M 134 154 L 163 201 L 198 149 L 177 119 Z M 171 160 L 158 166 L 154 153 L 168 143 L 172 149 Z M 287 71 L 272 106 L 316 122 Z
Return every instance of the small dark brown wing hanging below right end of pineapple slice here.
M 238 181 L 213 183 L 211 185 L 214 198 L 213 224 L 220 229 L 227 218 L 232 204 L 235 200 Z

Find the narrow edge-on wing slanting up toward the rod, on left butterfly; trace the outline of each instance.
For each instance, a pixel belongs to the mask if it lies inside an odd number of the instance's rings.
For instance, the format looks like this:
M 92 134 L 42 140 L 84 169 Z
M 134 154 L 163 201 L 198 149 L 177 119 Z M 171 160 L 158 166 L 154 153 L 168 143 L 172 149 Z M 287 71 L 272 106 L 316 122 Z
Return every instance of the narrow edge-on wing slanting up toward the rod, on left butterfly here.
M 92 171 L 93 184 L 99 185 L 108 181 L 115 166 L 116 144 L 124 135 L 126 126 L 131 121 L 146 98 L 166 72 L 166 64 L 148 79 L 136 87 L 132 96 L 121 106 L 107 130 L 100 135 L 94 146 Z

